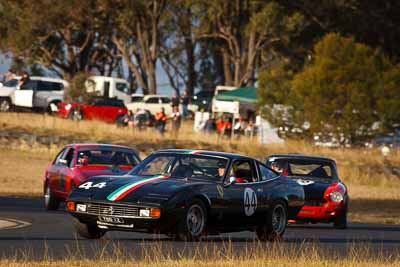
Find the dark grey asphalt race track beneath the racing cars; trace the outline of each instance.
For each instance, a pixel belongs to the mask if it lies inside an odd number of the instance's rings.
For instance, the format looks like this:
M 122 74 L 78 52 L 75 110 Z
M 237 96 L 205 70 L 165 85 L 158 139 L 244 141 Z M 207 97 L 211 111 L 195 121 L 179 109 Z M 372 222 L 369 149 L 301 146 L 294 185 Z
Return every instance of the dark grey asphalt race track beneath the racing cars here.
M 63 207 L 59 211 L 45 211 L 38 198 L 0 197 L 1 219 L 27 224 L 24 227 L 0 230 L 0 257 L 41 259 L 79 255 L 94 258 L 102 253 L 122 253 L 140 258 L 149 250 L 172 256 L 192 255 L 199 246 L 203 249 L 221 248 L 226 244 L 232 247 L 234 253 L 246 253 L 246 248 L 257 244 L 251 232 L 210 236 L 200 243 L 177 242 L 166 236 L 127 232 L 107 233 L 101 240 L 85 240 L 76 236 L 71 217 Z M 316 248 L 339 256 L 353 253 L 354 248 L 365 248 L 372 256 L 399 257 L 400 225 L 350 223 L 346 230 L 335 230 L 325 224 L 293 225 L 288 227 L 284 241 L 279 245 L 284 249 Z

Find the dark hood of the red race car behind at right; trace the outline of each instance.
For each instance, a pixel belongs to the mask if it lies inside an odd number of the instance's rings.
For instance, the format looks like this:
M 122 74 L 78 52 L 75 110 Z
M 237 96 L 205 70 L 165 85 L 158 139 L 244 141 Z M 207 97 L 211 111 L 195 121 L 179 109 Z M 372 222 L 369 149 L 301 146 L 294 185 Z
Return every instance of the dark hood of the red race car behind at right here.
M 336 181 L 330 179 L 310 179 L 309 177 L 289 176 L 299 185 L 303 186 L 305 200 L 321 200 L 325 190 Z

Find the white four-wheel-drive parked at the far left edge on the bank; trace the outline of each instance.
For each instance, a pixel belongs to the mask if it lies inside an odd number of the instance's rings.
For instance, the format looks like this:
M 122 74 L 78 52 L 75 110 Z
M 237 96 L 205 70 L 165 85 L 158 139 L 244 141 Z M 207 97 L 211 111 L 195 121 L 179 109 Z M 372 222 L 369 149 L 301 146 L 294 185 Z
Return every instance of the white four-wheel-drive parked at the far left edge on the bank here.
M 68 82 L 48 77 L 31 77 L 19 86 L 20 77 L 0 87 L 0 111 L 9 111 L 13 106 L 51 112 L 64 98 Z

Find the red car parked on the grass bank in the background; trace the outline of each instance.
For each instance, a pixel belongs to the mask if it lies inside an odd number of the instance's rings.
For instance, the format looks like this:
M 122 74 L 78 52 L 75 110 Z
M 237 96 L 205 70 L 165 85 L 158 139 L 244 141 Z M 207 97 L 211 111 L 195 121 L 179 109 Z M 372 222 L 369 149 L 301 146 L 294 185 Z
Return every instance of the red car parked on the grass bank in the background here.
M 58 104 L 58 114 L 73 120 L 101 120 L 119 123 L 128 113 L 124 102 L 115 98 L 93 97 L 85 103 Z

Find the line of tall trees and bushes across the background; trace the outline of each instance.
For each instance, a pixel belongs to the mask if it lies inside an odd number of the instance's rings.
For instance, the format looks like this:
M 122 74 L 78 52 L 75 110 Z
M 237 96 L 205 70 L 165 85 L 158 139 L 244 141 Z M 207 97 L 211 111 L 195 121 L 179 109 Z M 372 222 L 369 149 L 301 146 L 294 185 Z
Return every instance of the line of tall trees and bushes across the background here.
M 357 115 L 357 121 L 368 121 L 365 127 L 386 118 L 384 125 L 397 122 L 398 14 L 397 0 L 0 0 L 0 50 L 17 66 L 44 66 L 65 79 L 82 72 L 122 75 L 128 69 L 127 78 L 145 94 L 157 93 L 157 66 L 177 92 L 258 85 L 261 106 L 290 105 L 301 111 L 291 114 L 297 123 L 307 119 L 319 127 L 329 120 L 340 124 L 338 131 L 356 132 L 362 123 L 350 126 L 356 115 L 343 114 L 364 114 L 368 107 L 368 120 Z M 325 51 L 319 42 L 332 49 Z M 336 55 L 343 47 L 356 55 Z M 338 64 L 325 64 L 329 58 Z M 340 79 L 327 78 L 326 86 L 323 78 L 314 79 L 357 58 L 345 64 L 347 73 L 336 73 Z M 370 67 L 357 71 L 357 64 Z M 358 83 L 349 87 L 353 78 Z M 383 84 L 396 89 L 386 92 Z M 322 89 L 312 89 L 317 85 Z M 357 98 L 358 106 L 344 95 Z M 378 104 L 379 95 L 395 100 Z M 385 113 L 388 105 L 391 114 Z

